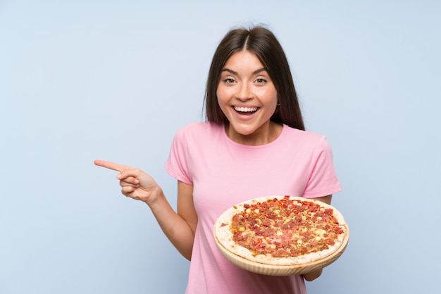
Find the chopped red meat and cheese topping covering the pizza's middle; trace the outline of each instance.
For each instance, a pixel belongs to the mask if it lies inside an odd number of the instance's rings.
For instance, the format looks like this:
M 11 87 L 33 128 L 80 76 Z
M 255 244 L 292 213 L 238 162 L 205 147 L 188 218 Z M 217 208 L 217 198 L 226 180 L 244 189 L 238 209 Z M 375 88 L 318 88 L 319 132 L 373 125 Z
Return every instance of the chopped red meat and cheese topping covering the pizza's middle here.
M 285 196 L 244 204 L 232 217 L 232 240 L 253 255 L 292 257 L 319 252 L 335 245 L 344 233 L 333 209 Z

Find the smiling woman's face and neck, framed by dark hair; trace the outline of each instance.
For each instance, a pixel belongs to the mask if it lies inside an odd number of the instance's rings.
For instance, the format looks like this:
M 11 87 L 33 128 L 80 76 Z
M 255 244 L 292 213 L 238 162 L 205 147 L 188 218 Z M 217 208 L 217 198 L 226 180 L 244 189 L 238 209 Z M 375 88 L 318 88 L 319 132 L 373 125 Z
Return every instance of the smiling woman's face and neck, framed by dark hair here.
M 277 91 L 256 55 L 246 50 L 233 54 L 223 67 L 216 94 L 233 141 L 263 145 L 275 140 L 270 118 L 278 104 Z

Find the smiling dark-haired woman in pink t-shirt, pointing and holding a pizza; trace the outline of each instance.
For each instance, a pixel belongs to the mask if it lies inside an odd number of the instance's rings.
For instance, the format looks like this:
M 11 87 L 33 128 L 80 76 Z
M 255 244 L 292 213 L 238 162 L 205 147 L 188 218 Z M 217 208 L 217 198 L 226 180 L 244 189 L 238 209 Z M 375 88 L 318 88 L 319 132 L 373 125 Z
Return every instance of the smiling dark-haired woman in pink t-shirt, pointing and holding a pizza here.
M 268 195 L 330 203 L 340 191 L 325 137 L 304 130 L 290 66 L 265 27 L 228 32 L 206 85 L 207 121 L 176 133 L 166 170 L 178 180 L 177 212 L 147 173 L 108 161 L 128 197 L 146 202 L 163 232 L 191 260 L 188 294 L 306 293 L 321 269 L 264 276 L 236 267 L 218 251 L 213 224 L 233 204 Z

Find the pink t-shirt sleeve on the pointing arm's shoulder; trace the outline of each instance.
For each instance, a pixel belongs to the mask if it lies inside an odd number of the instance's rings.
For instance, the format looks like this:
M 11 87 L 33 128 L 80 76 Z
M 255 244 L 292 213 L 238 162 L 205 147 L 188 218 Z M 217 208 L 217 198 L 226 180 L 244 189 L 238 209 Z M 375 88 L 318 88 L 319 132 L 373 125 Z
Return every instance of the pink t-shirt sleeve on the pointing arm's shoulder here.
M 178 130 L 170 147 L 166 161 L 166 171 L 170 176 L 186 184 L 193 185 L 188 169 L 188 146 L 185 140 L 185 128 Z

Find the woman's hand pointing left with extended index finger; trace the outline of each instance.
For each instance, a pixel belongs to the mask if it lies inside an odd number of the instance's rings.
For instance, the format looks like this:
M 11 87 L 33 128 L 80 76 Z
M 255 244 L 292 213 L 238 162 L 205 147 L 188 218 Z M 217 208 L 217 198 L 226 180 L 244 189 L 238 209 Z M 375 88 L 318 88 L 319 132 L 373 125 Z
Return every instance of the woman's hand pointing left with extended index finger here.
M 161 187 L 156 181 L 140 169 L 103 160 L 95 160 L 94 164 L 119 171 L 116 178 L 120 180 L 121 192 L 127 197 L 151 204 L 161 194 Z

